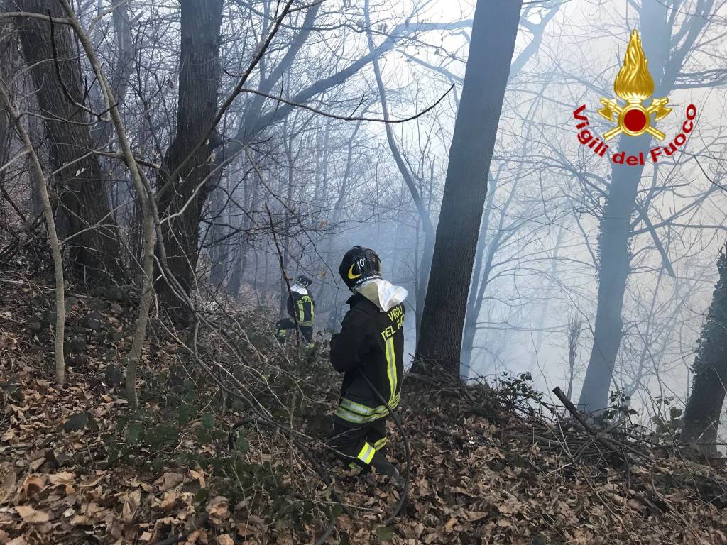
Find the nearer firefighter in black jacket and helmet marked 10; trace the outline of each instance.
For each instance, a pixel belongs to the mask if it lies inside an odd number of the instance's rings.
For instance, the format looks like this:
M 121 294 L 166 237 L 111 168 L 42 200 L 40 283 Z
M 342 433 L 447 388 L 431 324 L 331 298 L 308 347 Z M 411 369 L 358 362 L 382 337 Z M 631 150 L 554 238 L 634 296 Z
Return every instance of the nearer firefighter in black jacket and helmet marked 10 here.
M 386 405 L 396 408 L 401 395 L 406 289 L 383 280 L 376 252 L 361 246 L 346 252 L 339 274 L 353 296 L 331 339 L 331 363 L 344 374 L 331 445 L 352 467 L 398 480 L 385 455 Z

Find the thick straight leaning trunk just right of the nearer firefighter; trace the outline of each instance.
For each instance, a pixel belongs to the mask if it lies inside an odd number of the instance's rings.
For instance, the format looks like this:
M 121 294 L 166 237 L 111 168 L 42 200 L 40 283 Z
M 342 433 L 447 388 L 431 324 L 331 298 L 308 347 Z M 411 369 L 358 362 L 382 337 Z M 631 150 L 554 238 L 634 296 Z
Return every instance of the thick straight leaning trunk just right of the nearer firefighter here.
M 438 363 L 459 377 L 462 326 L 521 0 L 479 0 L 454 125 L 437 227 L 417 370 Z M 427 369 L 429 368 L 429 369 Z

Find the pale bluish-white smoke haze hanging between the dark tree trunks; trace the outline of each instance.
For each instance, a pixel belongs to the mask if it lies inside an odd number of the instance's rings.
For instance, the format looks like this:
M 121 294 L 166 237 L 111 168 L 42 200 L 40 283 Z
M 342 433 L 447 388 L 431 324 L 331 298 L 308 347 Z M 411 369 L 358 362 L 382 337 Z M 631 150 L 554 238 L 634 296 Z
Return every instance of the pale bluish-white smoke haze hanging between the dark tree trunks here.
M 99 9 L 113 5 L 81 4 L 87 26 Z M 505 373 L 530 373 L 546 396 L 572 380 L 571 397 L 579 397 L 594 347 L 599 237 L 606 196 L 616 190 L 610 156 L 619 139 L 608 141 L 605 157 L 596 155 L 579 143 L 573 113 L 585 105 L 588 130 L 601 140 L 614 126 L 598 115 L 600 100 L 616 98 L 614 78 L 636 29 L 650 69 L 658 70 L 662 57 L 680 59 L 678 73 L 652 73 L 656 80 L 673 80 L 662 94 L 657 84 L 654 94 L 668 96 L 673 108 L 656 122 L 667 134 L 661 145 L 678 134 L 688 105 L 696 105 L 697 116 L 686 142 L 673 156 L 646 161 L 638 182 L 620 312 L 623 337 L 610 389 L 624 389 L 640 411 L 635 418 L 645 424 L 659 410 L 659 398 L 674 397 L 678 406 L 686 401 L 718 278 L 716 259 L 727 238 L 727 7 L 710 1 L 707 15 L 695 15 L 702 4 L 524 2 L 494 159 L 482 180 L 489 193 L 465 324 L 463 376 L 494 382 Z M 340 323 L 350 295 L 337 273 L 340 259 L 354 244 L 368 246 L 381 257 L 385 278 L 409 291 L 406 350 L 414 355 L 429 267 L 425 226 L 438 224 L 474 2 L 370 1 L 383 97 L 369 55 L 365 7 L 364 0 L 325 0 L 294 12 L 246 81 L 245 88 L 258 94 L 242 92 L 226 111 L 217 128 L 225 145 L 212 156 L 222 168 L 202 206 L 193 291 L 203 300 L 226 296 L 265 307 L 271 316 L 284 313 L 274 230 L 289 275 L 313 278 L 316 330 L 326 336 Z M 158 163 L 177 129 L 179 4 L 132 0 L 126 8 L 134 53 L 121 110 L 134 153 Z M 225 2 L 219 102 L 249 65 L 276 9 L 281 6 L 269 0 Z M 117 32 L 111 17 L 92 31 L 107 66 L 116 65 Z M 86 60 L 81 68 L 92 81 Z M 92 99 L 100 101 L 100 94 Z M 389 124 L 388 135 L 379 122 L 412 116 Z M 654 140 L 651 147 L 656 145 Z M 126 235 L 139 238 L 132 186 L 124 172 L 107 167 L 115 217 Z M 582 331 L 571 376 L 573 320 Z

